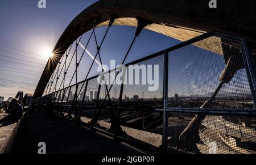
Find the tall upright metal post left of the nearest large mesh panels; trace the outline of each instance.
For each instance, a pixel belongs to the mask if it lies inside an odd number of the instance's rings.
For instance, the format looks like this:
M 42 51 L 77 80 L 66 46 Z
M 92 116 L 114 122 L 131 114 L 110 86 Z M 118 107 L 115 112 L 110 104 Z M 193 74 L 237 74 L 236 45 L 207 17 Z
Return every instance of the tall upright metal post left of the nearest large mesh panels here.
M 168 112 L 166 112 L 167 108 L 167 100 L 168 100 L 168 52 L 164 51 L 164 82 L 163 82 L 163 139 L 162 139 L 162 147 L 163 153 L 166 151 L 167 146 L 167 128 L 168 128 Z

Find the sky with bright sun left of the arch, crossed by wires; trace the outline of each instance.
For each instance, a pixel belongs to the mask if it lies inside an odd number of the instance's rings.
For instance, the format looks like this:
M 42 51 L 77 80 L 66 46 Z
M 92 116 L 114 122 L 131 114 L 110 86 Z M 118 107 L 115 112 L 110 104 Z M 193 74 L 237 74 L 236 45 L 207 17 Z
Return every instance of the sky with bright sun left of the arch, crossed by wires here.
M 5 99 L 18 91 L 34 92 L 46 53 L 72 19 L 96 1 L 46 2 L 47 8 L 39 9 L 37 0 L 0 1 L 0 96 Z

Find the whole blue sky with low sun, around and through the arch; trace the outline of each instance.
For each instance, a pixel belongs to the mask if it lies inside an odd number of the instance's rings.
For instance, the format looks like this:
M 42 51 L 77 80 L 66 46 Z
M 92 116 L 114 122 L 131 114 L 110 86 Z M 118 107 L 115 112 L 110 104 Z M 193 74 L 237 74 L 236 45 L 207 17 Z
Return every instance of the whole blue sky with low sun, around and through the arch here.
M 46 2 L 46 9 L 39 9 L 38 0 L 0 1 L 0 96 L 4 96 L 5 100 L 9 96 L 14 97 L 18 91 L 23 91 L 24 94 L 34 93 L 49 54 L 64 29 L 82 10 L 97 1 L 46 0 Z M 110 65 L 110 60 L 115 60 L 116 65 L 121 64 L 134 38 L 135 30 L 135 27 L 128 26 L 113 26 L 109 29 L 100 51 L 103 64 Z M 105 31 L 106 27 L 96 29 L 98 44 L 101 43 Z M 89 31 L 82 35 L 80 41 L 82 45 L 86 45 L 91 33 L 92 31 Z M 92 37 L 87 48 L 93 56 L 97 53 L 96 40 Z M 178 43 L 180 41 L 144 29 L 135 41 L 125 64 Z M 73 46 L 71 52 L 74 51 Z M 79 46 L 77 58 L 82 57 L 82 52 L 83 49 Z M 71 57 L 69 56 L 67 60 L 70 61 Z M 209 92 L 213 92 L 218 86 L 218 77 L 225 67 L 223 56 L 192 45 L 173 51 L 170 53 L 170 58 L 168 88 L 171 92 L 169 96 L 174 96 L 174 94 L 209 95 Z M 99 57 L 97 60 L 100 61 Z M 78 82 L 84 80 L 92 61 L 88 53 L 81 58 Z M 211 62 L 207 63 L 207 61 Z M 159 79 L 162 81 L 163 56 L 144 62 L 144 64 L 158 64 L 160 66 Z M 61 65 L 64 65 L 64 62 Z M 93 65 L 88 78 L 98 74 L 97 66 L 97 64 Z M 69 81 L 71 84 L 75 83 L 75 79 L 71 81 L 74 70 L 75 61 L 73 60 L 67 74 L 69 78 L 66 78 L 64 87 L 68 86 Z M 64 73 L 60 74 L 60 80 L 63 77 Z M 226 89 L 223 88 L 223 93 L 249 91 L 244 70 L 237 73 L 233 82 L 228 84 L 229 87 L 226 86 Z M 60 84 L 61 81 L 57 82 L 57 89 L 63 88 Z M 159 82 L 159 84 L 158 91 L 147 92 L 145 97 L 154 98 L 156 95 L 160 98 L 162 83 Z M 125 88 L 125 94 L 133 97 L 133 95 L 147 91 L 146 87 L 130 86 Z

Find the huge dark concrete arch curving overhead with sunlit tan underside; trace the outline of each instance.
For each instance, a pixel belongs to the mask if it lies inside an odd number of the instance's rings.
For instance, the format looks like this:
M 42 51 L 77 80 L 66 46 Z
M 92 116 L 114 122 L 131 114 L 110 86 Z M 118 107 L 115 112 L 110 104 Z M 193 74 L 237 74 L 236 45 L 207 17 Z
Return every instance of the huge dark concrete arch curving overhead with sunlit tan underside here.
M 152 31 L 185 41 L 205 31 L 220 31 L 241 37 L 256 36 L 255 1 L 217 1 L 217 9 L 209 9 L 208 0 L 101 0 L 82 11 L 61 35 L 55 54 L 43 71 L 34 99 L 43 95 L 49 78 L 65 50 L 83 33 L 106 26 L 110 15 L 117 15 L 114 25 L 137 26 L 137 17 L 150 20 Z

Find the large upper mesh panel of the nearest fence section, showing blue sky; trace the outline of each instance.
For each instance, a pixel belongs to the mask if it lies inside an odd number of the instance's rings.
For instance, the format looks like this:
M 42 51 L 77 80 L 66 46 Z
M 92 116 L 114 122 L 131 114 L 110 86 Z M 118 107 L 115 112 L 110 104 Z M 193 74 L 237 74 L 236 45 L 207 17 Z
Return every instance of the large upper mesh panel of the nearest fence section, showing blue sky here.
M 209 37 L 169 53 L 168 107 L 253 109 L 237 41 Z

